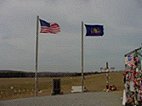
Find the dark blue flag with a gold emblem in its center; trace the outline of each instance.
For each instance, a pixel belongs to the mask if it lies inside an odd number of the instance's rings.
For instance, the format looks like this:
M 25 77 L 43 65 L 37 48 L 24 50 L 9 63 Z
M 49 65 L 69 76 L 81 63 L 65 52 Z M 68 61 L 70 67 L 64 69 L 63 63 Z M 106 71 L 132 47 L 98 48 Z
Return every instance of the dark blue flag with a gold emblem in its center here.
M 103 36 L 104 28 L 103 25 L 85 25 L 86 36 Z

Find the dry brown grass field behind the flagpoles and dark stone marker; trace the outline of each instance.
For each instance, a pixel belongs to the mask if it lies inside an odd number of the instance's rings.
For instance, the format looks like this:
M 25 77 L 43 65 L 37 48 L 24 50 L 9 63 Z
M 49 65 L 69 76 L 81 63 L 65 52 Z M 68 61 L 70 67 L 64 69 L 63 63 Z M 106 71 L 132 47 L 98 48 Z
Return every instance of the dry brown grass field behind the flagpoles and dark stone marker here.
M 39 96 L 51 95 L 53 79 L 39 78 Z M 59 77 L 59 79 L 61 79 L 63 94 L 69 94 L 72 86 L 81 85 L 81 77 Z M 111 72 L 110 84 L 115 85 L 118 91 L 122 91 L 123 73 Z M 85 76 L 84 85 L 88 92 L 104 91 L 106 85 L 105 73 Z M 0 100 L 32 96 L 34 96 L 34 78 L 0 78 Z

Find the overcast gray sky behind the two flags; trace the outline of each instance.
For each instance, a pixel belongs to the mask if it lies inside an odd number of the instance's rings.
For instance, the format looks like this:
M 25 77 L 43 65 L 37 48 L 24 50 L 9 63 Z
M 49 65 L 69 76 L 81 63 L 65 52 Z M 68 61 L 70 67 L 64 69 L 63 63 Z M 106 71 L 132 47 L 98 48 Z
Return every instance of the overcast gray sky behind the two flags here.
M 84 37 L 85 71 L 123 69 L 142 43 L 142 0 L 0 0 L 0 69 L 34 71 L 37 15 L 61 27 L 39 34 L 39 71 L 80 72 L 81 21 L 104 25 L 103 37 Z

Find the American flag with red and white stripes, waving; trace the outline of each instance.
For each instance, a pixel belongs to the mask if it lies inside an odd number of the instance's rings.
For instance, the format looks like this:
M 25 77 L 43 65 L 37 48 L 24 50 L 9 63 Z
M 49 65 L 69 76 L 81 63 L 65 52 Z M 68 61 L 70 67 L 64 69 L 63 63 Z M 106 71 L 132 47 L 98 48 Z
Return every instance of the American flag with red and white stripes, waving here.
M 49 23 L 40 19 L 41 30 L 40 33 L 52 33 L 56 34 L 60 32 L 60 26 L 57 23 Z

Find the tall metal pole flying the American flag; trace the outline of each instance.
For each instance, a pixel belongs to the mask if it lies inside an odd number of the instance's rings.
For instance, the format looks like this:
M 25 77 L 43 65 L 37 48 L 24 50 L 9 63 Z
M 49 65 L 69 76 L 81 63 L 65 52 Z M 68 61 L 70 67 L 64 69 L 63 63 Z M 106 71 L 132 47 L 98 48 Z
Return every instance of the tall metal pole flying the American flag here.
M 39 16 L 37 16 L 37 22 L 36 22 L 35 96 L 38 96 L 38 33 L 39 33 Z

